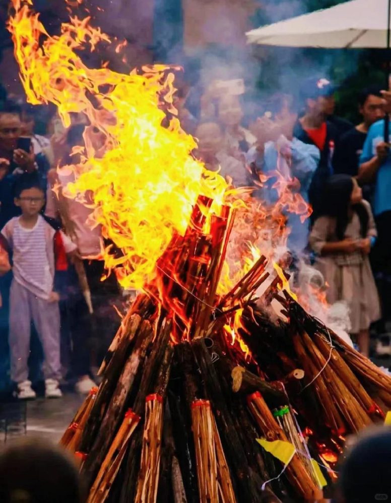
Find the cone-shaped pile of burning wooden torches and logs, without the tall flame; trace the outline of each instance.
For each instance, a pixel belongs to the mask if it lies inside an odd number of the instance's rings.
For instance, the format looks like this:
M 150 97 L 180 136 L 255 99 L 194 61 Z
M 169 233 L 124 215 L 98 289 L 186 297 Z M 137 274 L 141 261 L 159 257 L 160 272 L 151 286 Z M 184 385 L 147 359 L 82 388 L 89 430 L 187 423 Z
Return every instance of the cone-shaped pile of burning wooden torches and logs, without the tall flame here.
M 61 439 L 90 503 L 313 501 L 345 435 L 391 407 L 391 378 L 284 292 L 265 257 L 217 294 L 234 214 L 211 207 L 200 196 L 173 236 Z M 273 299 L 285 320 L 271 320 Z

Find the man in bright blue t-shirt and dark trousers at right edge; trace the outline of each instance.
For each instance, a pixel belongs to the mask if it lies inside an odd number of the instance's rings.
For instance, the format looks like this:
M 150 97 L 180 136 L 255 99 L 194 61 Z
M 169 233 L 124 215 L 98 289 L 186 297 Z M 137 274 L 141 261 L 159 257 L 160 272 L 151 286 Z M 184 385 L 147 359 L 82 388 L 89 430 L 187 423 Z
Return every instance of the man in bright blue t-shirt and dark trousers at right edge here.
M 386 108 L 388 107 L 390 104 Z M 391 303 L 391 152 L 389 143 L 384 142 L 383 120 L 375 122 L 369 128 L 360 157 L 357 179 L 360 185 L 375 185 L 373 213 L 377 226 L 377 241 L 372 250 L 371 264 L 385 321 L 385 318 L 389 317 Z M 381 331 L 384 329 L 384 326 L 380 328 Z

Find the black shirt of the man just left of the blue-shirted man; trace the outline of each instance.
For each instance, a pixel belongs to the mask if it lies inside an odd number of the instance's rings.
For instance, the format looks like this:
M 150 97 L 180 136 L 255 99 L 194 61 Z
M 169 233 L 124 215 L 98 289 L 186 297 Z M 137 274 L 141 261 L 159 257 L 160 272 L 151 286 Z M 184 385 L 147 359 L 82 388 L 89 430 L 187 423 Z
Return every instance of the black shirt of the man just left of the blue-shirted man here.
M 358 175 L 360 155 L 366 136 L 366 133 L 353 128 L 341 137 L 335 153 L 335 173 L 343 173 L 351 177 Z

